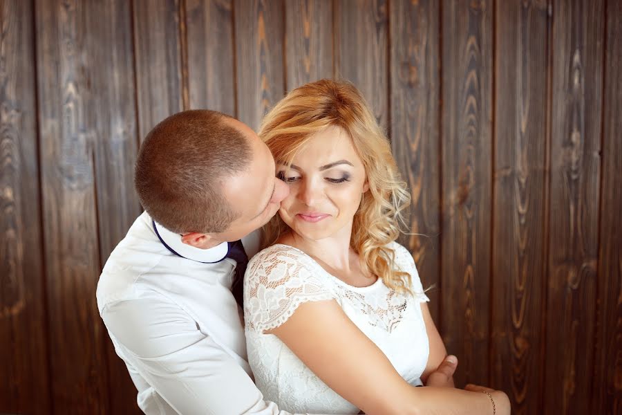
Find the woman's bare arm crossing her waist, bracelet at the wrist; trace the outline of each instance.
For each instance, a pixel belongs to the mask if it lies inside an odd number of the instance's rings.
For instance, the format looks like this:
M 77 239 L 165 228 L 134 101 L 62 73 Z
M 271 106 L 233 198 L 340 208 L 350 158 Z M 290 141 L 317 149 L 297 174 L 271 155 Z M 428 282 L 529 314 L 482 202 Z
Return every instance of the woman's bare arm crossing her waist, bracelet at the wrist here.
M 326 385 L 368 415 L 493 413 L 489 397 L 481 392 L 409 385 L 334 300 L 305 302 L 268 333 L 278 336 Z M 501 391 L 491 395 L 496 413 L 509 414 L 507 396 Z

